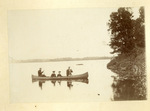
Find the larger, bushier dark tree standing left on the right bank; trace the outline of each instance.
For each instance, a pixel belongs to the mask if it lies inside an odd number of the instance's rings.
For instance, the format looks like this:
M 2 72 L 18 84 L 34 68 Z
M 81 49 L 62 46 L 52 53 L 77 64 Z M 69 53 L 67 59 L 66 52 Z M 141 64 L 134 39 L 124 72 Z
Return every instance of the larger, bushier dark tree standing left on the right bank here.
M 121 7 L 111 13 L 108 31 L 111 32 L 112 53 L 128 53 L 134 48 L 134 23 L 131 8 Z

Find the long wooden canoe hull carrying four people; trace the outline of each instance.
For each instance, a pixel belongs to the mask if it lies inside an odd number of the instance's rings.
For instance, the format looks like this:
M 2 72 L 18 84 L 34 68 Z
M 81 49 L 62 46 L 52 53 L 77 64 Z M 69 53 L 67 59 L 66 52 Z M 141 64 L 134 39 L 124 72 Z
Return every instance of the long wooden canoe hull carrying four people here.
M 32 79 L 35 80 L 64 80 L 64 79 L 86 79 L 86 78 L 88 78 L 88 72 L 79 75 L 62 76 L 62 77 L 50 77 L 50 76 L 39 77 L 32 75 Z

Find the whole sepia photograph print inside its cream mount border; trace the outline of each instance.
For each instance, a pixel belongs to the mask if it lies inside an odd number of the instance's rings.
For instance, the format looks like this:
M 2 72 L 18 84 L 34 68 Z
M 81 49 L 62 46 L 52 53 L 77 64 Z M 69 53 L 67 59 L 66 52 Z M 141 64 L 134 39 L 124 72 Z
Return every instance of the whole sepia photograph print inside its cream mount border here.
M 144 6 L 7 16 L 10 103 L 147 100 Z

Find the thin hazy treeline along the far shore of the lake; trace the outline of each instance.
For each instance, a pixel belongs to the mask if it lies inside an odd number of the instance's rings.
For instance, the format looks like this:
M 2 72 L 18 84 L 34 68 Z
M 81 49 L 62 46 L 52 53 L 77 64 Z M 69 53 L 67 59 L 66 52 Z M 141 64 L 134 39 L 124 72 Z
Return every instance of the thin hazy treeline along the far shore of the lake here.
M 26 59 L 26 60 L 14 60 L 10 61 L 13 63 L 28 63 L 28 62 L 59 62 L 59 61 L 82 61 L 82 60 L 102 60 L 111 59 L 112 57 L 84 57 L 84 58 L 55 58 L 55 59 Z

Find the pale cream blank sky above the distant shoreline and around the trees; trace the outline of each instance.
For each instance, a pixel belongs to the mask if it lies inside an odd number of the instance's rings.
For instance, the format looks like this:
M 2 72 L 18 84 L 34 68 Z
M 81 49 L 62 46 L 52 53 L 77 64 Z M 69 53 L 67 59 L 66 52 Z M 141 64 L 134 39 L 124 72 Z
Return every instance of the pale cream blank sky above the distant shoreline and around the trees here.
M 8 11 L 9 57 L 112 56 L 107 23 L 118 8 Z M 138 16 L 138 8 L 133 10 Z

